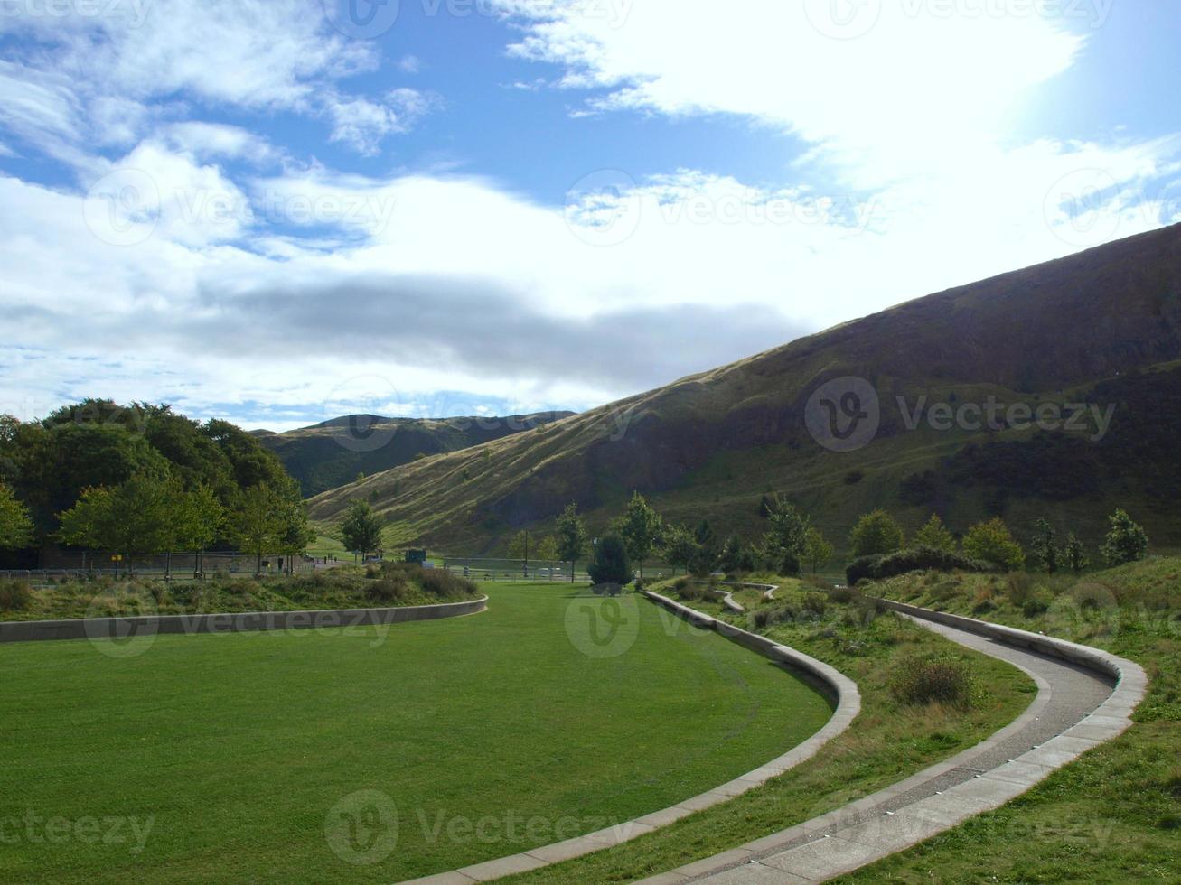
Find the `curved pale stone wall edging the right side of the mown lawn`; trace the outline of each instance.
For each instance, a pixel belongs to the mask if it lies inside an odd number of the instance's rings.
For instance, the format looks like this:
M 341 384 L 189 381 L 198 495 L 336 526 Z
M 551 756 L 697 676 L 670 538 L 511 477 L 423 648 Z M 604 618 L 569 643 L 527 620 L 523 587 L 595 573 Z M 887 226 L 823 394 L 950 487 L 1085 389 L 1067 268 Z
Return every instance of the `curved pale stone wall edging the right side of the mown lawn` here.
M 570 860 L 573 858 L 582 857 L 583 854 L 590 854 L 595 851 L 602 851 L 603 848 L 611 848 L 615 845 L 631 841 L 632 839 L 644 835 L 645 833 L 651 833 L 653 830 L 668 826 L 670 824 L 680 820 L 681 818 L 686 818 L 694 812 L 699 812 L 703 808 L 726 802 L 736 795 L 740 795 L 749 789 L 753 789 L 755 787 L 765 784 L 771 778 L 783 774 L 789 768 L 794 768 L 801 762 L 811 759 L 820 752 L 821 747 L 853 725 L 853 720 L 856 717 L 857 713 L 861 712 L 861 694 L 857 691 L 857 684 L 840 670 L 829 667 L 814 657 L 809 657 L 808 655 L 796 651 L 795 649 L 790 649 L 787 645 L 778 645 L 763 636 L 739 630 L 737 627 L 731 627 L 723 621 L 718 621 L 710 615 L 696 611 L 687 605 L 681 605 L 679 602 L 673 602 L 672 599 L 660 596 L 659 594 L 653 594 L 647 590 L 642 592 L 644 596 L 652 602 L 658 605 L 663 605 L 665 609 L 676 615 L 679 615 L 691 624 L 715 630 L 726 638 L 737 642 L 739 645 L 749 648 L 752 651 L 757 651 L 774 661 L 788 664 L 792 669 L 802 673 L 810 682 L 821 688 L 830 700 L 835 701 L 836 710 L 834 712 L 833 717 L 816 734 L 803 743 L 792 747 L 782 756 L 772 759 L 766 765 L 759 766 L 755 771 L 748 772 L 740 778 L 735 778 L 729 784 L 723 784 L 720 787 L 715 787 L 713 789 L 702 793 L 700 795 L 696 795 L 692 799 L 686 799 L 671 808 L 652 812 L 642 818 L 637 818 L 635 820 L 629 820 L 625 824 L 616 824 L 613 827 L 600 830 L 595 833 L 588 833 L 587 835 L 580 835 L 575 839 L 567 839 L 566 841 L 555 843 L 554 845 L 530 848 L 529 851 L 521 852 L 520 854 L 511 854 L 505 858 L 498 858 L 497 860 L 489 860 L 483 864 L 465 866 L 461 870 L 454 870 L 448 873 L 439 873 L 437 876 L 428 876 L 422 879 L 415 879 L 413 883 L 417 883 L 417 885 L 462 885 L 462 883 L 470 881 L 489 881 L 491 879 L 500 879 L 504 876 L 514 876 L 516 873 L 537 870 L 539 867 L 549 866 L 550 864 L 559 864 L 563 860 Z

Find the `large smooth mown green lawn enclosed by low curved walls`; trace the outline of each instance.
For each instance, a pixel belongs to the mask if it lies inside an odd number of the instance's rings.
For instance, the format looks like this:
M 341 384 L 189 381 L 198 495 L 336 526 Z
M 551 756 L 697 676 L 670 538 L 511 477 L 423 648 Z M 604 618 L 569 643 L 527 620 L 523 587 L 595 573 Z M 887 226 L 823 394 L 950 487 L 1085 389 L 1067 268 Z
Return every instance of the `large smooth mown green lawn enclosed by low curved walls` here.
M 385 634 L 0 647 L 0 880 L 397 881 L 665 807 L 830 715 L 646 601 L 487 590 Z

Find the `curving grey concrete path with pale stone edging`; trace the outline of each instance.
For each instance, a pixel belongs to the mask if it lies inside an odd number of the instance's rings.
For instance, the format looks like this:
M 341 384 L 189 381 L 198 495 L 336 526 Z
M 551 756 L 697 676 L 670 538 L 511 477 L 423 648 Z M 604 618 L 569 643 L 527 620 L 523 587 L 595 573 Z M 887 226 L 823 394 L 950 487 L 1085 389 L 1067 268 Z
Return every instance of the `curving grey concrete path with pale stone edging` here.
M 1000 807 L 1056 768 L 1117 736 L 1130 726 L 1129 716 L 1147 687 L 1136 664 L 1094 649 L 1031 634 L 1017 636 L 1019 631 L 1009 631 L 1011 638 L 986 638 L 914 620 L 1025 670 L 1037 682 L 1037 699 L 1009 727 L 946 762 L 830 814 L 645 881 L 779 885 L 824 881 L 852 872 Z M 1079 656 L 1092 667 L 1018 648 L 1017 642 L 1052 644 L 1059 654 Z M 1117 690 L 1113 691 L 1115 677 L 1095 664 L 1120 674 Z

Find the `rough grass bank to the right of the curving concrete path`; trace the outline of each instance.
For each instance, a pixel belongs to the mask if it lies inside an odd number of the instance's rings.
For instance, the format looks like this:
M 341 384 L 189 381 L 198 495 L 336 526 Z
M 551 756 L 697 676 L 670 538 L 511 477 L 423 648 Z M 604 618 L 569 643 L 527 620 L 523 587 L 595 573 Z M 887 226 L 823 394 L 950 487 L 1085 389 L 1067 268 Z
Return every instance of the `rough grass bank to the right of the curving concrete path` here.
M 1181 559 L 1083 578 L 907 575 L 872 591 L 1103 648 L 1140 663 L 1150 683 L 1115 741 L 843 881 L 1181 880 Z

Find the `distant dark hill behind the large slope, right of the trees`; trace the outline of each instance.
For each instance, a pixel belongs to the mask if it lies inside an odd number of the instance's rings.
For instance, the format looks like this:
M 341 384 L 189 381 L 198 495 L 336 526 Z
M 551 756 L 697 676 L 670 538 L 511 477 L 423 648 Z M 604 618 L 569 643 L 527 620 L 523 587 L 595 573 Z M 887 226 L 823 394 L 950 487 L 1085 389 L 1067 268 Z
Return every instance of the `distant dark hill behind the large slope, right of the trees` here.
M 540 412 L 444 420 L 360 414 L 333 418 L 288 433 L 256 431 L 254 435 L 295 477 L 304 494 L 312 497 L 352 483 L 358 473 L 380 473 L 416 458 L 470 448 L 573 414 Z

